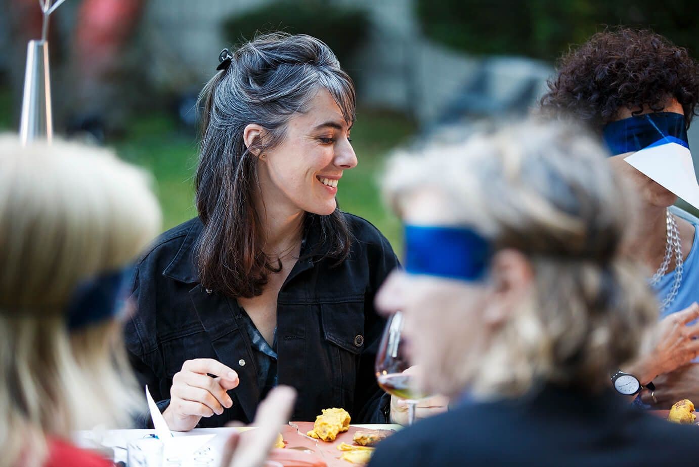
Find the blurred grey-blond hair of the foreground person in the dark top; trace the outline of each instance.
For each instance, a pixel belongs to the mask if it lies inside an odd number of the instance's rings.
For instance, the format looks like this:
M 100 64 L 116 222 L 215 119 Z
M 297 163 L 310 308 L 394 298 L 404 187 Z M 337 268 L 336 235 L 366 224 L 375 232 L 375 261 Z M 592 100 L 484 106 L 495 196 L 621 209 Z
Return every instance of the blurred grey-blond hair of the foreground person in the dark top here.
M 658 307 L 644 268 L 622 252 L 633 199 L 606 157 L 579 127 L 531 120 L 392 160 L 384 186 L 394 207 L 415 190 L 439 190 L 455 223 L 496 251 L 523 253 L 533 270 L 528 299 L 475 366 L 451 370 L 462 388 L 515 396 L 555 382 L 596 391 L 635 356 Z

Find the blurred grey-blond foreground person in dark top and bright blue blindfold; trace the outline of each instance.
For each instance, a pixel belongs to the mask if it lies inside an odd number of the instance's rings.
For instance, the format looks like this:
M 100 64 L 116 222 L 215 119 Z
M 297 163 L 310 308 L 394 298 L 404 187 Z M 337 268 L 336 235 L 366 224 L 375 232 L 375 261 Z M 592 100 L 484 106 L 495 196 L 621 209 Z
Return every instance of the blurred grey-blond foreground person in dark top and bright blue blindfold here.
M 393 161 L 405 272 L 377 307 L 403 312 L 420 391 L 452 406 L 370 467 L 699 464 L 696 427 L 610 386 L 657 304 L 621 251 L 633 200 L 605 155 L 579 127 L 530 122 Z

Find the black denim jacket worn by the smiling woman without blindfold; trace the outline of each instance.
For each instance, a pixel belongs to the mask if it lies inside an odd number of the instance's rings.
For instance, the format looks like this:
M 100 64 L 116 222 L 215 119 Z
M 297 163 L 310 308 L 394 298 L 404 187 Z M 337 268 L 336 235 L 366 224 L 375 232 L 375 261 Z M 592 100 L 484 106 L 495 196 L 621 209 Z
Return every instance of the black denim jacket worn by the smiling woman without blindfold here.
M 373 301 L 398 260 L 373 225 L 345 216 L 355 241 L 339 265 L 304 254 L 321 239 L 313 216 L 306 223 L 302 259 L 278 295 L 278 382 L 298 391 L 293 420 L 312 421 L 324 408 L 344 407 L 353 423 L 385 423 L 389 398 L 374 375 L 384 319 Z M 161 410 L 186 360 L 215 358 L 228 365 L 240 377 L 229 391 L 233 407 L 201 419 L 199 426 L 249 423 L 260 402 L 255 358 L 236 300 L 208 293 L 199 283 L 194 249 L 202 227 L 194 218 L 168 230 L 138 263 L 137 312 L 126 325 L 127 350 L 140 383 L 148 385 Z M 149 418 L 138 424 L 147 426 Z

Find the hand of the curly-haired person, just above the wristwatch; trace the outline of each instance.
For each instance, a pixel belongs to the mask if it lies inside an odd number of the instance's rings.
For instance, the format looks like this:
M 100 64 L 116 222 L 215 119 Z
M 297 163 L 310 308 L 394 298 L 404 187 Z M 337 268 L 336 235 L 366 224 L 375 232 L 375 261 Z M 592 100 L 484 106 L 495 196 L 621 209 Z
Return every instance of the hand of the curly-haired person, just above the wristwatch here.
M 657 375 L 671 372 L 699 355 L 699 305 L 693 303 L 681 312 L 665 316 L 651 334 L 651 341 L 640 358 L 625 371 L 647 384 Z

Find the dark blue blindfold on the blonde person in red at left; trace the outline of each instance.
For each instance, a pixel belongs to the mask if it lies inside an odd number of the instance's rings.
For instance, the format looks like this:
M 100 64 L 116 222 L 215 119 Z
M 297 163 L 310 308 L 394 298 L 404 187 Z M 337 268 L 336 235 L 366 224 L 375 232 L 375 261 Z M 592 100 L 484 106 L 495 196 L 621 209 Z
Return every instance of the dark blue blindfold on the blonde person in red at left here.
M 134 279 L 134 267 L 106 272 L 79 284 L 66 309 L 69 330 L 101 323 L 119 314 L 126 305 Z

